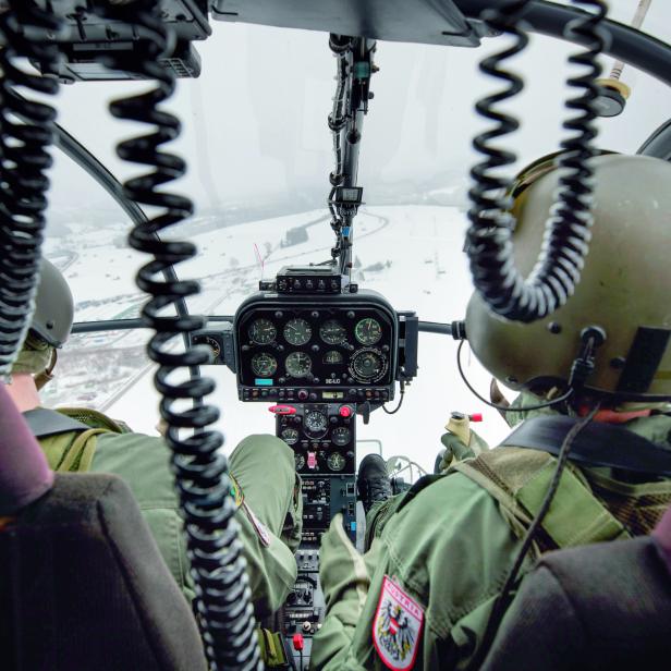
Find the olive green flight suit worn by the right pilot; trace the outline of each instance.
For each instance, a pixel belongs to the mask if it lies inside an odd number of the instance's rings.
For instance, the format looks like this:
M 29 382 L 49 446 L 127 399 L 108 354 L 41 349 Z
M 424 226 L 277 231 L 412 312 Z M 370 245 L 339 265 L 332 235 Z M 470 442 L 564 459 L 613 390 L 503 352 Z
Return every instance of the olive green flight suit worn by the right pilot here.
M 667 415 L 634 419 L 626 428 L 671 449 L 671 417 Z M 512 456 L 514 465 L 514 460 L 528 459 L 528 453 L 533 459 L 546 460 L 553 469 L 554 457 L 536 450 L 500 448 L 485 456 Z M 368 526 L 375 532 L 368 536 L 369 549 L 363 556 L 349 542 L 340 518 L 333 520 L 321 544 L 320 577 L 327 615 L 314 639 L 310 670 L 468 668 L 525 530 L 515 526 L 509 511 L 487 489 L 460 472 L 461 465 L 475 461 L 457 464 L 447 474 L 427 476 L 424 487 L 415 486 L 371 509 Z M 603 503 L 601 510 L 619 510 L 620 517 L 633 522 L 629 528 L 632 534 L 649 530 L 671 501 L 670 480 L 624 481 L 608 468 L 570 465 L 556 502 L 560 498 L 571 500 L 571 496 L 564 496 L 566 491 L 561 491 L 564 484 L 569 495 L 572 487 L 578 487 L 590 501 L 595 501 L 591 493 L 596 493 Z M 544 484 L 542 492 L 546 490 Z M 611 517 L 608 510 L 606 515 Z M 548 515 L 556 518 L 562 513 L 565 510 L 558 510 L 553 503 Z M 617 520 L 607 522 L 611 525 L 608 538 L 627 535 Z M 577 528 L 571 528 L 571 533 L 575 533 L 575 545 L 581 545 L 588 529 L 575 524 Z M 536 547 L 535 551 L 542 549 Z M 533 563 L 534 558 L 527 556 L 522 574 Z M 386 646 L 385 655 L 390 661 L 385 663 L 378 651 L 380 634 L 389 634 L 391 626 L 395 634 L 403 625 L 401 619 L 392 622 L 378 612 L 390 602 L 390 594 L 400 594 L 401 602 L 410 603 L 422 624 L 416 637 L 406 637 L 406 649 L 395 649 L 395 659 L 394 650 Z M 417 634 L 416 622 L 413 634 Z

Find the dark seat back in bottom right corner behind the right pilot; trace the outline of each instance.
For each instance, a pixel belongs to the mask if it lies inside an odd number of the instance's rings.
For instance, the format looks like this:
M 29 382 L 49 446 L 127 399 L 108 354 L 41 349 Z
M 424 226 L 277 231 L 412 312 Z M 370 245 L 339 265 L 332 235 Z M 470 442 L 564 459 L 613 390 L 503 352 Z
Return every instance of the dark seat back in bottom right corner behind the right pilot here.
M 652 536 L 545 554 L 481 670 L 671 668 L 671 509 Z

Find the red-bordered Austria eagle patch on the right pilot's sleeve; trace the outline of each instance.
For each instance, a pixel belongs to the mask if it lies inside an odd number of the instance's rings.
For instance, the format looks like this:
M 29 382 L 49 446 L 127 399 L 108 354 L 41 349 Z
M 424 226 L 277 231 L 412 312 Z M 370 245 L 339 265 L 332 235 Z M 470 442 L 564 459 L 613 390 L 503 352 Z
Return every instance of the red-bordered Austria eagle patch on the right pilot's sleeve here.
M 412 669 L 419 648 L 424 609 L 388 575 L 373 620 L 373 643 L 388 669 Z

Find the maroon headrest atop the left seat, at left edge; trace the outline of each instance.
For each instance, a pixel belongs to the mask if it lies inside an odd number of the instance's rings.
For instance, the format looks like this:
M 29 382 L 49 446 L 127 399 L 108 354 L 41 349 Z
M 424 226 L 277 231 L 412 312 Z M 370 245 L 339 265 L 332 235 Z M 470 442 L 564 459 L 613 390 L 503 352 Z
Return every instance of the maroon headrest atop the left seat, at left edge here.
M 52 484 L 45 453 L 0 382 L 0 515 L 39 499 Z

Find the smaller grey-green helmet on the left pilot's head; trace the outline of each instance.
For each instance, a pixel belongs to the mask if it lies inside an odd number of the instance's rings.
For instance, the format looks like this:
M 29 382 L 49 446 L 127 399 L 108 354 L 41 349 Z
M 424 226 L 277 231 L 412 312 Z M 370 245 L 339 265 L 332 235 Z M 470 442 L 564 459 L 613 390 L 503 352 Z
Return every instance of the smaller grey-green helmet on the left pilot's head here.
M 53 347 L 61 347 L 70 335 L 74 319 L 72 292 L 61 271 L 41 259 L 39 285 L 30 331 Z

